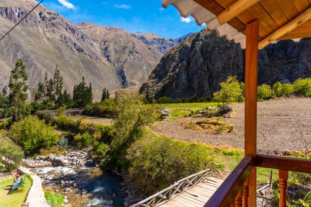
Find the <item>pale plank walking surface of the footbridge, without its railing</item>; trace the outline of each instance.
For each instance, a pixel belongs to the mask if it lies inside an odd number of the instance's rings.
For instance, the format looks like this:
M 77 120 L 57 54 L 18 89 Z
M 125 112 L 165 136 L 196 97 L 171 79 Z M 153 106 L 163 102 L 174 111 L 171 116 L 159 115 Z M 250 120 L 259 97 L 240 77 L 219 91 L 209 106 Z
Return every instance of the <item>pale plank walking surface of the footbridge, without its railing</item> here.
M 223 180 L 206 177 L 204 181 L 160 205 L 160 207 L 203 207 L 222 183 Z

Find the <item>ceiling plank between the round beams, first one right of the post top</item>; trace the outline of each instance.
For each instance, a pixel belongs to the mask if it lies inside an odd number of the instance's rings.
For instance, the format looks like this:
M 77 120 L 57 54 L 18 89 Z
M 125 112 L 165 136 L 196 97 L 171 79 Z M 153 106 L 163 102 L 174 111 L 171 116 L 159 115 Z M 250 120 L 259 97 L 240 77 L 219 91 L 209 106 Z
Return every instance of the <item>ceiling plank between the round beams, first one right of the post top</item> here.
M 248 8 L 247 11 L 253 16 L 256 16 L 260 24 L 262 24 L 262 26 L 264 26 L 269 32 L 274 32 L 279 28 L 276 22 L 267 14 L 259 3 Z

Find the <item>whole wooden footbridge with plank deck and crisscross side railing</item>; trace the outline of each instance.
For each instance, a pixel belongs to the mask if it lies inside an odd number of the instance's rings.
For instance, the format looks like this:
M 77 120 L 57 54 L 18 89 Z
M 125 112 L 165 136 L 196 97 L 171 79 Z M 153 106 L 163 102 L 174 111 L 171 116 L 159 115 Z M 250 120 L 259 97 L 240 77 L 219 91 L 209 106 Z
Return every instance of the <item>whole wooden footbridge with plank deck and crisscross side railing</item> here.
M 208 170 L 190 175 L 131 207 L 203 207 L 223 180 L 207 177 Z

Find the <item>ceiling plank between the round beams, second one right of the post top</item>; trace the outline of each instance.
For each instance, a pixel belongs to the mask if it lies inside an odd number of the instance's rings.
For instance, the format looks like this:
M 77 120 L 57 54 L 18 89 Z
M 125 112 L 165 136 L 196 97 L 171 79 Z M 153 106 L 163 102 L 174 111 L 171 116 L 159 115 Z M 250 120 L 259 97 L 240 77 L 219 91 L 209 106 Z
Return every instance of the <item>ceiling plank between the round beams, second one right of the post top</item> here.
M 273 18 L 277 26 L 281 27 L 288 22 L 282 9 L 277 4 L 276 0 L 260 0 L 259 4 L 266 10 L 266 12 Z

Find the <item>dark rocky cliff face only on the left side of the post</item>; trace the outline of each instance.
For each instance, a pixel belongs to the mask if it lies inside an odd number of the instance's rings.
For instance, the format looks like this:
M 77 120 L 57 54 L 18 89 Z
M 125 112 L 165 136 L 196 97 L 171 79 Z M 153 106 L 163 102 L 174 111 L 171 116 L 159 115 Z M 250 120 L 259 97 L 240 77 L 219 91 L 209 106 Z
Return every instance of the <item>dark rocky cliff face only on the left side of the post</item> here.
M 209 96 L 228 75 L 241 80 L 243 51 L 240 45 L 204 29 L 169 50 L 142 85 L 148 97 Z

